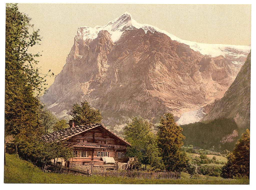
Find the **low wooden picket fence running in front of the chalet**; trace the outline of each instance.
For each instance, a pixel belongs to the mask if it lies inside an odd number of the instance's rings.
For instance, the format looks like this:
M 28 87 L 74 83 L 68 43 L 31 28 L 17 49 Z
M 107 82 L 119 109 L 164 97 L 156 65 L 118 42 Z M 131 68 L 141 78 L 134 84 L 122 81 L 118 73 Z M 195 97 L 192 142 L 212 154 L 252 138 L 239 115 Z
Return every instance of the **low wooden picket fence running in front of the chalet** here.
M 49 170 L 55 171 L 56 173 L 72 174 L 72 175 L 98 175 L 98 176 L 115 176 L 115 177 L 127 177 L 137 179 L 180 179 L 180 172 L 142 172 L 142 171 L 104 171 L 104 172 L 92 172 L 73 169 L 70 167 L 63 166 L 61 164 L 51 163 L 48 167 Z

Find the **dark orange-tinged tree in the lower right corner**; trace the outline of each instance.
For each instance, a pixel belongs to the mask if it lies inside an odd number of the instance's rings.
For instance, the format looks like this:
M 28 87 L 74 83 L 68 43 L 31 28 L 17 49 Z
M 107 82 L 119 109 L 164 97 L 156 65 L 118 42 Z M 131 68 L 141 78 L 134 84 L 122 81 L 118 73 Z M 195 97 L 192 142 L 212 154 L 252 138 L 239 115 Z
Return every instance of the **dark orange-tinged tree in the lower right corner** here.
M 224 178 L 250 176 L 250 131 L 242 134 L 238 139 L 233 152 L 227 156 L 228 162 L 222 168 Z

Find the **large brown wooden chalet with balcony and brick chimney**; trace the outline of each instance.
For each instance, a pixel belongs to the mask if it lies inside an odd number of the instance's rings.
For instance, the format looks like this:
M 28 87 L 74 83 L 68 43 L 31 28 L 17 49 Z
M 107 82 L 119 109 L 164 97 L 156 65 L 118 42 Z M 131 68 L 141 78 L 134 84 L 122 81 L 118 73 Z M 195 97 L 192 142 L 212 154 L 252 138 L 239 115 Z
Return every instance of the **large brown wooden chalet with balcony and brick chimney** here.
M 107 164 L 107 162 L 127 162 L 129 160 L 125 157 L 125 151 L 130 144 L 107 129 L 103 123 L 75 125 L 70 120 L 69 124 L 69 128 L 42 137 L 47 142 L 67 140 L 76 156 L 67 161 L 65 165 L 69 166 L 71 163 L 86 165 L 91 162 Z

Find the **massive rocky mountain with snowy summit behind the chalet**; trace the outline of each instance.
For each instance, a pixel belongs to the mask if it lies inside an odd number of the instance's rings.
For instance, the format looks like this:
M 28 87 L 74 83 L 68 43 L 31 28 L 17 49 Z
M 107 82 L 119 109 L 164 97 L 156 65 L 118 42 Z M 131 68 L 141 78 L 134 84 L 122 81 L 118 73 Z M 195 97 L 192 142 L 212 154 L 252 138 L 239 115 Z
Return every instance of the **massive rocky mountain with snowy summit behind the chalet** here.
M 59 117 L 87 100 L 105 125 L 120 124 L 122 116 L 157 121 L 166 112 L 178 120 L 223 97 L 248 49 L 180 40 L 125 13 L 106 26 L 78 29 L 65 66 L 40 100 Z M 218 56 L 200 53 L 206 50 Z

